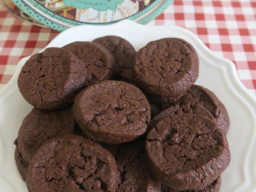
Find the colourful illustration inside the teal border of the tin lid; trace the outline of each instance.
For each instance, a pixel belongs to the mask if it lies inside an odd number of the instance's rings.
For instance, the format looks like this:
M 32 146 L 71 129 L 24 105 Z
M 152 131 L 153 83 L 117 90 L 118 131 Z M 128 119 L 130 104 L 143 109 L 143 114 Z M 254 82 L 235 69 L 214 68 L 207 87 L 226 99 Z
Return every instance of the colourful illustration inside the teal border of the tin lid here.
M 58 15 L 89 23 L 121 20 L 138 13 L 154 0 L 37 0 Z

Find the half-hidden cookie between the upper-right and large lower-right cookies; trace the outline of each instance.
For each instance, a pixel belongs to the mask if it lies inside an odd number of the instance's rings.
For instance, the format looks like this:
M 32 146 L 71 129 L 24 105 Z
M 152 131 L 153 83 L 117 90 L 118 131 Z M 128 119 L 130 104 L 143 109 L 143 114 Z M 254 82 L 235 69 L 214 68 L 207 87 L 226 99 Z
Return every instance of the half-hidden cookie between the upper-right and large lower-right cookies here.
M 224 133 L 227 133 L 228 131 L 229 117 L 225 106 L 213 92 L 200 85 L 193 85 L 186 92 L 186 94 L 180 98 L 180 100 L 169 105 L 171 105 L 171 107 L 166 109 L 165 113 L 166 111 L 172 113 L 174 112 L 174 109 L 176 110 L 176 108 L 179 108 L 184 113 L 195 113 L 202 115 L 205 113 L 204 116 L 210 117 L 209 114 L 202 109 L 205 108 L 207 111 L 210 111 L 211 116 L 213 116 L 221 131 Z

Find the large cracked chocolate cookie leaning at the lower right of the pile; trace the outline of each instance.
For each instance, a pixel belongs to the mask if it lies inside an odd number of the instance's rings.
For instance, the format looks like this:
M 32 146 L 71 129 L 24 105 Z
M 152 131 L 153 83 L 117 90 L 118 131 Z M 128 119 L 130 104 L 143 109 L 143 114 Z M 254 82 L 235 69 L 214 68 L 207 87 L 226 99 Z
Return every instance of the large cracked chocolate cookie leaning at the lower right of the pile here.
M 224 133 L 197 114 L 161 120 L 148 133 L 145 149 L 152 175 L 175 190 L 210 185 L 230 162 Z

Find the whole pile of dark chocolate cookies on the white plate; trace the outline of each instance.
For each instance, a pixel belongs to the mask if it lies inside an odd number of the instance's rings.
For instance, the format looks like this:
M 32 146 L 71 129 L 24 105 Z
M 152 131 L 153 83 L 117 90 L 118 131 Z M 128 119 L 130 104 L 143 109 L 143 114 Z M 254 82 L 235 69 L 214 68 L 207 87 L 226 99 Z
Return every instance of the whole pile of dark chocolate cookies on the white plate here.
M 136 53 L 105 36 L 30 57 L 18 87 L 34 108 L 15 140 L 28 191 L 219 191 L 229 118 L 194 85 L 198 70 L 193 46 L 176 38 Z

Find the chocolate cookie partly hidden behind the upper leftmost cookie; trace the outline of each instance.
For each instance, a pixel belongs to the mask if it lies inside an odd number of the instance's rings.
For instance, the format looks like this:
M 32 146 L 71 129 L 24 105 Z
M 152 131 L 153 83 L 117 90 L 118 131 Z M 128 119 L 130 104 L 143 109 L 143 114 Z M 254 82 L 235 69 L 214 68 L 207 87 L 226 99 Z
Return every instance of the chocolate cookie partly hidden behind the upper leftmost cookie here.
M 114 65 L 113 55 L 101 44 L 87 41 L 76 41 L 63 46 L 63 49 L 70 51 L 78 59 L 83 61 L 91 79 L 85 85 L 111 79 Z

